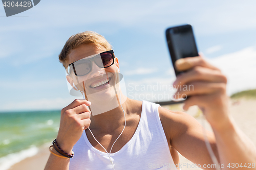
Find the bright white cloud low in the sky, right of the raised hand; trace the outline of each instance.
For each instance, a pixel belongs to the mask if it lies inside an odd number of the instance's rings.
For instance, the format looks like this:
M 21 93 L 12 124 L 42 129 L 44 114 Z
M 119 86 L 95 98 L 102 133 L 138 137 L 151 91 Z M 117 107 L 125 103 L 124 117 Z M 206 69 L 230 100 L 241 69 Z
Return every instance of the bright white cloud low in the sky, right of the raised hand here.
M 219 56 L 209 60 L 219 67 L 228 78 L 227 92 L 256 88 L 256 47 Z

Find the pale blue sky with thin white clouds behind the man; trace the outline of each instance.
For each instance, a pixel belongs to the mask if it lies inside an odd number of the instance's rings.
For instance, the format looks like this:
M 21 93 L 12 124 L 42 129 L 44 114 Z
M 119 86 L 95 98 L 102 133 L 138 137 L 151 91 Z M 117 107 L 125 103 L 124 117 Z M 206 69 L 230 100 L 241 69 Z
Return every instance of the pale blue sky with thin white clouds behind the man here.
M 164 32 L 189 23 L 199 51 L 227 75 L 228 94 L 256 88 L 255 6 L 253 0 L 42 0 L 12 17 L 0 6 L 0 111 L 71 103 L 58 54 L 71 35 L 87 30 L 111 42 L 125 84 L 170 84 L 175 76 Z

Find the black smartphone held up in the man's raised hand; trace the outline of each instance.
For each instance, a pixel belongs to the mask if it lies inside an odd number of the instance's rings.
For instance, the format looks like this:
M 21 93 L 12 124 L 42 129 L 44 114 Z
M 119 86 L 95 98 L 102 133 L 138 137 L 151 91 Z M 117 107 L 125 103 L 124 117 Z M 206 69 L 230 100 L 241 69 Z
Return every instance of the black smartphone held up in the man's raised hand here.
M 192 26 L 182 25 L 171 27 L 166 30 L 165 34 L 175 75 L 177 76 L 181 71 L 175 68 L 176 60 L 185 57 L 199 56 Z

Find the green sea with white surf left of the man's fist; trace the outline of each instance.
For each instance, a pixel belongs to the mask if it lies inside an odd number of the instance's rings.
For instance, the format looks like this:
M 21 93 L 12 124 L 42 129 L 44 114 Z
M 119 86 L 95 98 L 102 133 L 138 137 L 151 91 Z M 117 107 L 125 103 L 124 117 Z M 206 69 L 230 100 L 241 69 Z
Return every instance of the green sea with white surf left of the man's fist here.
M 34 156 L 58 133 L 60 111 L 0 112 L 0 170 Z

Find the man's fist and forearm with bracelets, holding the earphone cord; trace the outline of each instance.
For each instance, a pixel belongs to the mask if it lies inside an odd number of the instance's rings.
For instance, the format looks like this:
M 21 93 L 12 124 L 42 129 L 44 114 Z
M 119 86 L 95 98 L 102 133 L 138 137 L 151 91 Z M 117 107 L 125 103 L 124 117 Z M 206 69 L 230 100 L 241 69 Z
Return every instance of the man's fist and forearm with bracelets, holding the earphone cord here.
M 91 105 L 90 102 L 86 100 L 75 100 L 61 110 L 60 126 L 56 141 L 63 151 L 71 153 L 83 130 L 90 126 L 91 112 L 87 107 L 89 105 Z M 53 148 L 52 151 L 60 155 Z M 45 170 L 68 170 L 70 159 L 72 158 L 60 158 L 51 154 Z

